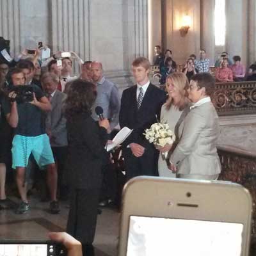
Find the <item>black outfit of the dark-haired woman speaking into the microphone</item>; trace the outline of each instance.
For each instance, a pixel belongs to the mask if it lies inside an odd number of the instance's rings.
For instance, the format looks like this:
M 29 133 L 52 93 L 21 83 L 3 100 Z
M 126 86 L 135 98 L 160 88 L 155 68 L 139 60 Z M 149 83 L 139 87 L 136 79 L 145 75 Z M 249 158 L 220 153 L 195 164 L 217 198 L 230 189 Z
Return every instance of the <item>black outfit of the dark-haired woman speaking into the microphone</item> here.
M 67 232 L 85 246 L 92 244 L 94 239 L 102 158 L 108 134 L 95 123 L 91 113 L 79 113 L 72 119 L 67 118 L 67 138 L 70 182 Z

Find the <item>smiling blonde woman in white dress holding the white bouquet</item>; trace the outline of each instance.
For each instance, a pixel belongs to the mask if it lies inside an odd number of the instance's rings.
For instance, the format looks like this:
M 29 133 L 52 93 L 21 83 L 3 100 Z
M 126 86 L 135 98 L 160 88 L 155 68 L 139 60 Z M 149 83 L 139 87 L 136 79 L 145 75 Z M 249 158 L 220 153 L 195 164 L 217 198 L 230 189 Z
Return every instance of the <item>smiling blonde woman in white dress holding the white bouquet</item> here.
M 189 111 L 189 100 L 186 97 L 188 86 L 188 78 L 182 72 L 175 72 L 166 78 L 168 99 L 161 109 L 161 122 L 169 124 L 170 129 L 175 132 L 176 141 L 173 145 L 166 144 L 164 147 L 157 147 L 160 153 L 169 152 L 170 154 L 179 141 L 178 131 L 182 129 L 183 120 Z M 175 177 L 175 173 L 168 169 L 168 161 L 162 154 L 159 154 L 158 172 L 161 177 Z

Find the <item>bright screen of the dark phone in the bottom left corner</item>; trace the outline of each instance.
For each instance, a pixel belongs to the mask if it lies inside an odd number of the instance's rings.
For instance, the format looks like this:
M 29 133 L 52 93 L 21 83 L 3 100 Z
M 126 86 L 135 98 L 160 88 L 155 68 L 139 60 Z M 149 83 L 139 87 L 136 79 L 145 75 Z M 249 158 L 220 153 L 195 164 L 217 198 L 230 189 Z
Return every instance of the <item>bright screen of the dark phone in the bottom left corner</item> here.
M 0 244 L 0 255 L 47 256 L 47 244 Z

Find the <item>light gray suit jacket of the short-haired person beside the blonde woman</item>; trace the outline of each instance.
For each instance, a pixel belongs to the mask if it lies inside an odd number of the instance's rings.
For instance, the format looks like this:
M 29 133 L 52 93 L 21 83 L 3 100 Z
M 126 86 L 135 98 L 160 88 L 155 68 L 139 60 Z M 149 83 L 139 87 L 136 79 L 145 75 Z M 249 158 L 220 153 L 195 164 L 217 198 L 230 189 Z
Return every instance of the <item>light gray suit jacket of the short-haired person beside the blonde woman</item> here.
M 177 173 L 220 173 L 220 159 L 216 150 L 219 133 L 218 115 L 211 102 L 191 109 L 184 120 L 184 128 L 179 131 L 179 144 L 170 157 L 170 161 L 177 166 Z

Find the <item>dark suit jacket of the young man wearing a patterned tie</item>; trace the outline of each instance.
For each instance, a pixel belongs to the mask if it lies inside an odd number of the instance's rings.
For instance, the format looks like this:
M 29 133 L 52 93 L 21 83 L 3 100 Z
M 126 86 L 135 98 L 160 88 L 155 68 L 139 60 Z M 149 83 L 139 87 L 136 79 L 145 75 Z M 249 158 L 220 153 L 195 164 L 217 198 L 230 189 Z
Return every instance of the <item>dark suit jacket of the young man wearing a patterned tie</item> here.
M 124 90 L 121 98 L 120 127 L 126 126 L 134 129 L 124 141 L 124 147 L 132 142 L 143 145 L 143 147 L 149 145 L 143 133 L 145 133 L 145 129 L 156 123 L 157 119 L 160 119 L 161 107 L 166 102 L 166 93 L 150 83 L 143 97 L 141 107 L 138 109 L 136 91 L 137 86 L 134 85 Z

